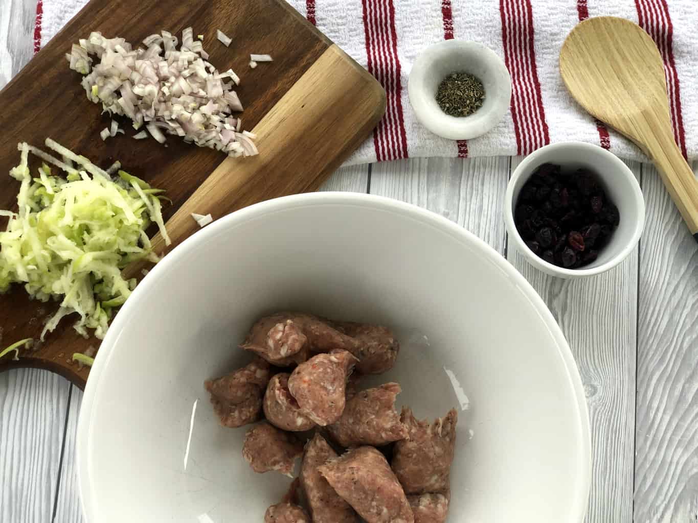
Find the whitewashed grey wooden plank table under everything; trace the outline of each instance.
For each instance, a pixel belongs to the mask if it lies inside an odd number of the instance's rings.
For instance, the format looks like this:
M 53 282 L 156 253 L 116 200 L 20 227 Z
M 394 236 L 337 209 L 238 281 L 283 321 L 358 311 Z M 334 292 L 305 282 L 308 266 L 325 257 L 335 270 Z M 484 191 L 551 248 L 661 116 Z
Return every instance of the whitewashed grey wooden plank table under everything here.
M 36 0 L 0 1 L 0 87 L 31 58 L 35 12 Z M 647 204 L 639 248 L 599 277 L 550 278 L 507 249 L 502 204 L 519 161 L 347 167 L 323 190 L 370 192 L 442 214 L 537 289 L 586 391 L 594 460 L 588 522 L 698 522 L 698 245 L 655 169 L 631 162 Z M 0 522 L 82 521 L 74 464 L 81 400 L 80 390 L 49 372 L 0 374 Z

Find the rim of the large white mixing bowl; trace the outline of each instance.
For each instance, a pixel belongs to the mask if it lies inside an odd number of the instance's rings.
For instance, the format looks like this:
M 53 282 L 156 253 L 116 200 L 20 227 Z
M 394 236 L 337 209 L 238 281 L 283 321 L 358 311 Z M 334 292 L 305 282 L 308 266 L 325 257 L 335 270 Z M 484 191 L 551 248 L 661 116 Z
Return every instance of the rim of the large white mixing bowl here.
M 119 333 L 128 324 L 129 319 L 135 313 L 135 303 L 138 303 L 141 294 L 147 294 L 154 287 L 158 278 L 162 278 L 172 264 L 176 264 L 179 256 L 189 250 L 195 250 L 198 245 L 208 241 L 210 238 L 221 234 L 225 229 L 234 227 L 240 223 L 264 215 L 274 213 L 285 209 L 292 209 L 299 206 L 322 206 L 325 204 L 344 204 L 359 207 L 371 207 L 392 211 L 397 214 L 406 215 L 409 218 L 418 220 L 431 225 L 442 232 L 450 234 L 462 243 L 469 243 L 477 248 L 481 255 L 486 257 L 491 263 L 498 266 L 508 278 L 510 278 L 518 289 L 528 298 L 537 314 L 544 322 L 547 330 L 552 338 L 554 338 L 560 356 L 565 363 L 567 378 L 572 386 L 574 397 L 577 399 L 577 414 L 579 415 L 579 441 L 581 448 L 579 453 L 579 470 L 581 477 L 579 478 L 579 491 L 574 494 L 574 503 L 572 503 L 571 514 L 575 515 L 575 521 L 581 521 L 586 514 L 586 506 L 591 488 L 591 432 L 589 428 L 588 410 L 586 406 L 584 388 L 581 384 L 579 370 L 572 356 L 567 340 L 563 335 L 560 327 L 556 323 L 553 315 L 542 301 L 542 298 L 537 294 L 535 289 L 523 278 L 514 266 L 512 266 L 502 255 L 491 248 L 487 243 L 477 238 L 474 234 L 463 229 L 447 218 L 443 218 L 436 213 L 420 209 L 412 204 L 406 204 L 394 199 L 379 197 L 374 195 L 363 195 L 360 193 L 350 192 L 315 192 L 302 195 L 292 195 L 272 199 L 267 202 L 255 204 L 235 213 L 231 213 L 219 220 L 216 220 L 211 225 L 193 234 L 184 242 L 178 245 L 167 256 L 160 261 L 152 271 L 140 282 L 131 299 L 121 308 L 117 316 L 112 322 L 112 326 L 107 331 L 101 348 L 95 358 L 94 365 L 91 368 L 89 380 L 84 390 L 82 407 L 80 408 L 80 418 L 77 425 L 77 478 L 80 488 L 80 500 L 82 511 L 88 522 L 98 521 L 98 510 L 96 506 L 96 495 L 91 485 L 89 476 L 89 460 L 91 457 L 91 442 L 89 434 L 92 429 L 92 412 L 94 409 L 96 396 L 100 393 L 101 374 L 109 365 L 110 358 L 114 354 L 114 345 L 117 343 Z

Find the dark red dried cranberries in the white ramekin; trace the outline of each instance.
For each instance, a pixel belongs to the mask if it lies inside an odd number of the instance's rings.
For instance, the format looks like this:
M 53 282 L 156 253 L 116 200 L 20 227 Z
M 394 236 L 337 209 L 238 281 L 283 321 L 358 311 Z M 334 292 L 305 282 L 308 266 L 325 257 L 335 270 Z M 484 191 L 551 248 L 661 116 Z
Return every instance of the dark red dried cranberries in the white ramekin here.
M 579 268 L 596 260 L 621 216 L 588 169 L 538 167 L 519 192 L 514 223 L 528 248 L 549 264 Z

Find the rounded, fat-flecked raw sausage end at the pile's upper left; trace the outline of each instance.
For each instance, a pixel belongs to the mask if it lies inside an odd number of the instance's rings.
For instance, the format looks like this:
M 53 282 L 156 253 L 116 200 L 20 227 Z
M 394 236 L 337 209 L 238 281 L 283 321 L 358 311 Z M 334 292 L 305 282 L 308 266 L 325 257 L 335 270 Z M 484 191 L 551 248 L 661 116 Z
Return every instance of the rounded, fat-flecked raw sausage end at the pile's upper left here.
M 240 347 L 279 367 L 302 363 L 308 359 L 308 347 L 301 328 L 287 314 L 274 314 L 257 321 Z

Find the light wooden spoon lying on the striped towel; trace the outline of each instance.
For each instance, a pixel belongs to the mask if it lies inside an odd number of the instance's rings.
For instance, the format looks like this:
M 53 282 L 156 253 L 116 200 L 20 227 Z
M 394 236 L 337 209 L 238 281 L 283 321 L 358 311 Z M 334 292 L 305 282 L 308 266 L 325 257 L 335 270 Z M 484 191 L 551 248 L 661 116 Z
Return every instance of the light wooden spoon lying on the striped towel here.
M 664 66 L 652 38 L 623 18 L 589 18 L 567 36 L 560 74 L 584 109 L 653 160 L 698 241 L 698 181 L 674 142 Z

